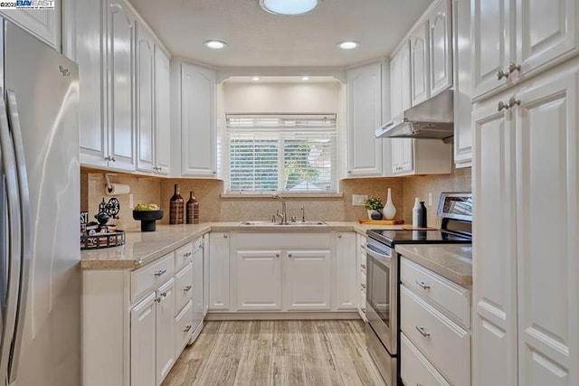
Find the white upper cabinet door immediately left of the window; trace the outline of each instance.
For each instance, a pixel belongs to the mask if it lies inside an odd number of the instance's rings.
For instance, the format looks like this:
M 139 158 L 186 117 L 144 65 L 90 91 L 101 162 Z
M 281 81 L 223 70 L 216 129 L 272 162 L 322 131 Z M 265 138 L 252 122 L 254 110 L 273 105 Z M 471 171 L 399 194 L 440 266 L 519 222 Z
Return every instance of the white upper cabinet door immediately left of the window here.
M 215 177 L 215 72 L 184 63 L 181 95 L 181 174 Z

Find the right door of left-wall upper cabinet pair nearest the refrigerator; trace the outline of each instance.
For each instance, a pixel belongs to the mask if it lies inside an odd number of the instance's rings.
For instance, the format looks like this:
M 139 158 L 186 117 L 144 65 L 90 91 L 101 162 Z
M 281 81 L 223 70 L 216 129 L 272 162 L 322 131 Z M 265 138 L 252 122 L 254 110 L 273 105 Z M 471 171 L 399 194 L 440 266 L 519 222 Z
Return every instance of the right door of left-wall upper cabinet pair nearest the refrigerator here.
M 135 19 L 122 0 L 109 0 L 107 9 L 109 166 L 135 170 L 133 74 Z

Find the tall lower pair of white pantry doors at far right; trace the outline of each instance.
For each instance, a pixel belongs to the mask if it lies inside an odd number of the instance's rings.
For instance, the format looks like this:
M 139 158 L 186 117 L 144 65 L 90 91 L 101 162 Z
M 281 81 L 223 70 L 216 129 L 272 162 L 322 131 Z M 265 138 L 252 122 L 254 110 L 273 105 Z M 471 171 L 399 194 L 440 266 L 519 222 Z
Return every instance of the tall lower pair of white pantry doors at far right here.
M 475 385 L 579 384 L 578 91 L 575 58 L 475 105 Z

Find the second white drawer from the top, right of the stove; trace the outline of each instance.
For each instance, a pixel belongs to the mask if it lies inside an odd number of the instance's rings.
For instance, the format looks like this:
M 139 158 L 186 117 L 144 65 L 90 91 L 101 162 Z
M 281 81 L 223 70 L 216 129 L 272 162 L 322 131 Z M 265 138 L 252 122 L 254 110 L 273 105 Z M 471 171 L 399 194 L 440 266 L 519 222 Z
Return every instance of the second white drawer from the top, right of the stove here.
M 400 286 L 400 326 L 447 380 L 470 384 L 470 334 L 404 285 Z

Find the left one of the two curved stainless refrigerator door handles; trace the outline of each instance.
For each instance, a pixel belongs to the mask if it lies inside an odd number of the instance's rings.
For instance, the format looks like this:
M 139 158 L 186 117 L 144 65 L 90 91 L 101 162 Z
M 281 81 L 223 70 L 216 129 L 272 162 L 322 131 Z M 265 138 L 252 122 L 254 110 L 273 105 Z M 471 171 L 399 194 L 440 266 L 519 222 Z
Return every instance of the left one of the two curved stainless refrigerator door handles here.
M 0 95 L 4 95 L 0 89 Z M 8 203 L 8 249 L 6 264 L 7 288 L 5 292 L 5 318 L 2 325 L 2 344 L 0 344 L 0 381 L 7 383 L 8 363 L 14 339 L 16 313 L 18 309 L 18 288 L 20 287 L 20 257 L 22 253 L 22 225 L 20 213 L 20 194 L 14 146 L 6 117 L 4 98 L 0 98 L 0 147 L 5 165 L 6 201 Z

